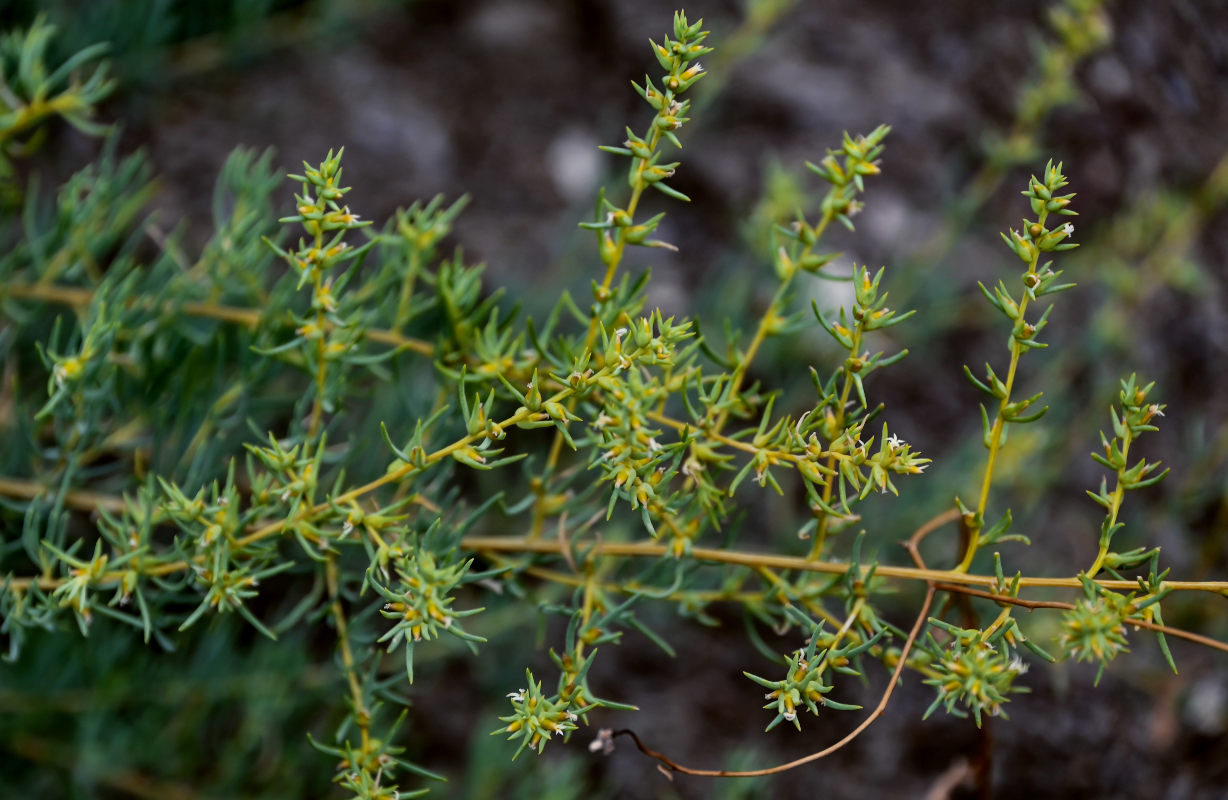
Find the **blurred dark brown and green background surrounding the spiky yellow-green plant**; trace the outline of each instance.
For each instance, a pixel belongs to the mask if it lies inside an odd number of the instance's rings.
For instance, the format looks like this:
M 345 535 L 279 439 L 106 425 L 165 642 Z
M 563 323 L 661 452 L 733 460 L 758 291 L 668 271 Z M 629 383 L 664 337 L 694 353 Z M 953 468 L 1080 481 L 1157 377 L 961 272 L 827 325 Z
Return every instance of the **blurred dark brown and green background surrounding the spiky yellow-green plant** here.
M 705 60 L 710 75 L 695 90 L 672 182 L 694 202 L 653 198 L 646 208 L 668 211 L 661 237 L 679 252 L 630 261 L 652 269 L 651 305 L 728 317 L 749 335 L 775 290 L 770 222 L 822 195 L 803 162 L 845 130 L 893 128 L 856 233 L 833 233 L 829 245 L 844 253 L 835 272 L 885 265 L 890 305 L 919 311 L 879 342 L 911 355 L 871 382 L 893 430 L 935 458 L 925 480 L 901 482 L 903 503 L 867 510 L 884 559 L 901 560 L 893 542 L 953 495 L 975 492 L 979 396 L 960 365 L 980 372 L 1007 353 L 1007 331 L 976 281 L 1019 272 L 998 232 L 1018 227 L 1019 190 L 1052 157 L 1078 193 L 1082 243 L 1056 268 L 1079 290 L 1056 300 L 1052 347 L 1024 360 L 1023 387 L 1044 390 L 1052 409 L 1005 451 L 1000 479 L 1011 489 L 991 509 L 1011 505 L 1016 530 L 1034 542 L 1009 549 L 1008 569 L 1068 575 L 1092 560 L 1100 514 L 1084 489 L 1103 469 L 1088 452 L 1108 428 L 1117 381 L 1137 371 L 1168 403 L 1142 450 L 1173 473 L 1127 498 L 1119 541 L 1160 546 L 1162 564 L 1181 578 L 1228 575 L 1228 4 L 1099 6 L 713 0 L 686 9 L 705 18 L 717 52 Z M 599 186 L 625 183 L 623 162 L 597 145 L 646 124 L 629 80 L 656 73 L 647 39 L 668 31 L 672 10 L 647 0 L 0 0 L 0 27 L 42 12 L 65 53 L 112 43 L 122 84 L 102 118 L 119 120 L 120 151 L 142 149 L 160 176 L 150 225 L 177 230 L 189 251 L 208 237 L 214 181 L 233 147 L 271 147 L 276 163 L 296 168 L 344 145 L 349 199 L 366 219 L 382 222 L 437 193 L 470 194 L 456 243 L 486 262 L 489 284 L 542 313 L 562 289 L 583 296 L 599 274 L 592 236 L 576 222 L 591 216 Z M 99 147 L 56 128 L 21 170 L 53 184 Z M 284 199 L 289 208 L 289 184 Z M 797 308 L 810 297 L 833 308 L 844 291 L 808 283 Z M 723 347 L 718 324 L 705 331 Z M 809 365 L 833 358 L 822 332 L 809 332 L 771 342 L 756 369 L 791 371 L 801 387 Z M 927 558 L 948 563 L 954 544 L 936 542 Z M 1226 617 L 1221 597 L 1165 605 L 1170 624 L 1221 639 Z M 840 715 L 807 719 L 802 734 L 760 735 L 759 694 L 740 676 L 759 656 L 736 616 L 722 622 L 673 625 L 674 660 L 635 641 L 605 653 L 598 694 L 645 709 L 605 724 L 630 724 L 675 759 L 711 767 L 785 761 L 851 726 Z M 1044 640 L 1056 619 L 1024 624 Z M 32 641 L 21 670 L 0 672 L 0 773 L 23 796 L 319 796 L 332 764 L 298 731 L 317 725 L 316 707 L 336 693 L 327 649 L 236 632 L 232 670 L 194 669 L 214 664 L 214 634 L 188 637 L 169 656 L 117 638 L 71 650 L 54 637 Z M 628 747 L 589 757 L 585 737 L 505 767 L 511 750 L 486 736 L 502 710 L 489 687 L 515 683 L 519 667 L 441 649 L 411 696 L 406 745 L 449 775 L 435 796 L 975 796 L 944 780 L 990 751 L 1000 798 L 1226 796 L 1222 654 L 1174 643 L 1174 676 L 1153 640 L 1131 639 L 1135 651 L 1094 691 L 1094 670 L 1033 670 L 1032 696 L 986 734 L 942 715 L 921 721 L 932 691 L 906 678 L 887 716 L 833 759 L 720 784 L 667 783 Z M 523 657 L 517 645 L 490 646 Z M 840 699 L 871 704 L 880 684 Z M 163 745 L 146 757 L 140 742 L 150 737 Z M 71 774 L 52 766 L 60 747 L 71 748 Z

